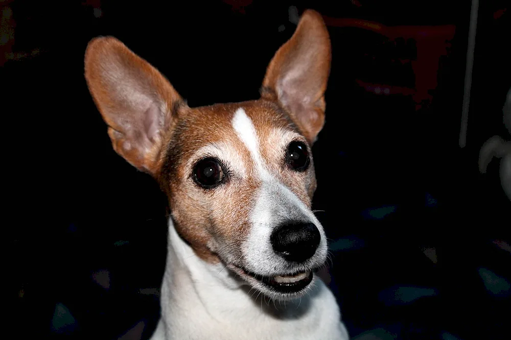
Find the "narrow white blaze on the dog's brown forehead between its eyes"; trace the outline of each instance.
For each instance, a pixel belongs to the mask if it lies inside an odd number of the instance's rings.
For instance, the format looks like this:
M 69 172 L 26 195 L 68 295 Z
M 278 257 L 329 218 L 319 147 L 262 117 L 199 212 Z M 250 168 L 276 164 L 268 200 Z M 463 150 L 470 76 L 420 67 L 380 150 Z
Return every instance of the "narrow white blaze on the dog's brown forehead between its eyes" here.
M 236 131 L 236 134 L 250 152 L 252 159 L 258 168 L 259 174 L 263 178 L 270 177 L 264 166 L 261 153 L 259 152 L 259 139 L 257 133 L 255 132 L 255 127 L 243 108 L 240 107 L 238 110 L 236 110 L 232 124 L 234 131 Z

